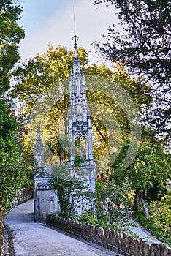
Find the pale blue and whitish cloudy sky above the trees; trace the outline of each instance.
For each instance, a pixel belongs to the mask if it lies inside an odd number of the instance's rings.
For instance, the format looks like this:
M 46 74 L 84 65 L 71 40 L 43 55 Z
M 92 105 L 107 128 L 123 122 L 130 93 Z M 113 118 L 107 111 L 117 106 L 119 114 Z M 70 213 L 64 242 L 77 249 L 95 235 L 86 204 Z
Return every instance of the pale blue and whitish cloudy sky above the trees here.
M 115 8 L 102 4 L 96 10 L 93 0 L 20 0 L 19 4 L 23 6 L 20 25 L 26 33 L 25 39 L 20 42 L 23 61 L 36 53 L 45 53 L 49 42 L 55 47 L 64 45 L 73 48 L 73 8 L 79 38 L 77 44 L 91 50 L 91 63 L 102 62 L 102 57 L 94 53 L 91 43 L 104 42 L 102 34 L 107 34 L 107 27 L 113 24 L 116 29 L 121 29 Z

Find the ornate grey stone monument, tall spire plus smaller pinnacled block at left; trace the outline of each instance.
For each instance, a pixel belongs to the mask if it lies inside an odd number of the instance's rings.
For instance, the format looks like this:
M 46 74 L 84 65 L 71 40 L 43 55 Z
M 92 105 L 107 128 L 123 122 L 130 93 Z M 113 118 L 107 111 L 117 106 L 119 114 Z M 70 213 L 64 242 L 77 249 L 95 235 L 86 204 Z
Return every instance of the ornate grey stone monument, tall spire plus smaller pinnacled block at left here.
M 75 35 L 76 39 L 76 35 Z M 86 82 L 83 69 L 80 71 L 80 59 L 77 56 L 77 43 L 75 41 L 75 57 L 72 60 L 73 67 L 69 79 L 69 114 L 68 129 L 69 140 L 72 142 L 69 169 L 72 170 L 75 157 L 83 157 L 81 164 L 84 183 L 94 190 L 94 156 L 91 134 L 91 113 L 88 110 L 86 98 Z M 35 220 L 44 220 L 45 214 L 60 211 L 58 197 L 50 187 L 50 173 L 52 166 L 44 165 L 44 146 L 42 144 L 40 126 L 37 126 L 37 140 L 34 146 L 34 156 L 39 172 L 34 176 L 34 211 Z M 49 170 L 50 169 L 50 170 Z M 88 203 L 86 203 L 88 205 Z M 87 206 L 88 207 L 88 206 Z M 85 207 L 86 209 L 86 207 Z M 80 206 L 77 206 L 77 213 Z

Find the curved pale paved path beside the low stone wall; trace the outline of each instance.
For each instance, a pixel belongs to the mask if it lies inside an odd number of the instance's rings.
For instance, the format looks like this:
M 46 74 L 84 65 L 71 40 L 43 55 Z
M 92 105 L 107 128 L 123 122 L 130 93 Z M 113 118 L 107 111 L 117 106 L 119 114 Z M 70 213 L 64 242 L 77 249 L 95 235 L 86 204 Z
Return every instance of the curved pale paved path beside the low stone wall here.
M 80 241 L 64 233 L 34 222 L 33 200 L 15 208 L 5 216 L 5 225 L 12 233 L 15 254 L 10 256 L 107 256 L 116 255 L 86 241 Z M 7 256 L 6 254 L 5 256 Z

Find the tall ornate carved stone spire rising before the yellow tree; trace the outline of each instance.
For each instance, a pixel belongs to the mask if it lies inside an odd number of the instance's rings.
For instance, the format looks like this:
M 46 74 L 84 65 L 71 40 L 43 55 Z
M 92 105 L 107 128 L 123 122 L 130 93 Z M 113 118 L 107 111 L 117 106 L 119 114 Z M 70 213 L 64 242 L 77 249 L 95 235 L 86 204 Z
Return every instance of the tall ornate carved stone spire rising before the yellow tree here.
M 83 169 L 89 177 L 89 184 L 94 187 L 94 155 L 92 146 L 91 113 L 88 110 L 86 97 L 86 80 L 83 69 L 80 68 L 80 59 L 77 56 L 77 35 L 75 39 L 75 57 L 72 59 L 72 68 L 69 76 L 69 140 L 72 150 L 69 165 L 80 156 L 84 159 Z

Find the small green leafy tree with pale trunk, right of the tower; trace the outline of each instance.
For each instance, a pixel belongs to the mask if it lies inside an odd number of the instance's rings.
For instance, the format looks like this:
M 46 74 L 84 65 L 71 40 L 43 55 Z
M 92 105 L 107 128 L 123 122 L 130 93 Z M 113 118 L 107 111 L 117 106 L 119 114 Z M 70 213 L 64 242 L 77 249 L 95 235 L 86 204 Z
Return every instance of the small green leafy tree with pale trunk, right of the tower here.
M 137 156 L 126 170 L 122 170 L 122 162 L 128 150 L 128 144 L 123 143 L 120 154 L 113 164 L 115 169 L 111 178 L 116 184 L 130 184 L 135 197 L 140 200 L 145 214 L 148 216 L 147 202 L 161 200 L 167 192 L 165 184 L 170 178 L 170 154 L 167 154 L 160 140 L 152 141 L 142 137 Z

